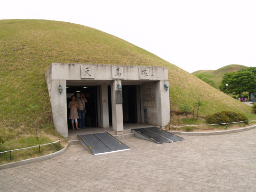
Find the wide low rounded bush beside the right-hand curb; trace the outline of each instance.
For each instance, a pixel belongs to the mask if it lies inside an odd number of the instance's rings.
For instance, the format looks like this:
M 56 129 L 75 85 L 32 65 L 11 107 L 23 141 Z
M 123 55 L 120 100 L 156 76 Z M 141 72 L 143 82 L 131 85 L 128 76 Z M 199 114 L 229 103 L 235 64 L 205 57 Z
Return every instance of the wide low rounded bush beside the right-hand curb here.
M 248 118 L 241 113 L 224 110 L 221 112 L 214 113 L 212 115 L 207 115 L 206 120 L 210 124 L 217 124 L 217 123 L 231 123 L 231 122 L 245 121 L 245 120 L 248 120 Z

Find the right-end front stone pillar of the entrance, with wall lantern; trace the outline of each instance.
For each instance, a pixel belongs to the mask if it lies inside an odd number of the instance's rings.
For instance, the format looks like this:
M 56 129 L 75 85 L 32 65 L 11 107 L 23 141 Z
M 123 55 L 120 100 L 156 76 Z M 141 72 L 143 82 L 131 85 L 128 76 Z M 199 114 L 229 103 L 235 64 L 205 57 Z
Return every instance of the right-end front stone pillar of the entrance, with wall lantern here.
M 161 128 L 170 122 L 169 90 L 165 91 L 164 84 L 169 86 L 168 81 L 155 82 L 156 124 Z

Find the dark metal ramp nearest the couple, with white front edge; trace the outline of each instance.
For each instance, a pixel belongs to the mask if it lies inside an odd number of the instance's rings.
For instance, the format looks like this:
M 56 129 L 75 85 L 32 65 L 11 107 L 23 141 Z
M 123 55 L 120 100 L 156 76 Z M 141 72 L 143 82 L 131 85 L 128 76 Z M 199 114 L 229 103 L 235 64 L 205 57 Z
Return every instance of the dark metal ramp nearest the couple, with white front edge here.
M 78 138 L 80 140 L 80 145 L 91 151 L 93 155 L 101 155 L 130 149 L 108 132 L 78 135 Z

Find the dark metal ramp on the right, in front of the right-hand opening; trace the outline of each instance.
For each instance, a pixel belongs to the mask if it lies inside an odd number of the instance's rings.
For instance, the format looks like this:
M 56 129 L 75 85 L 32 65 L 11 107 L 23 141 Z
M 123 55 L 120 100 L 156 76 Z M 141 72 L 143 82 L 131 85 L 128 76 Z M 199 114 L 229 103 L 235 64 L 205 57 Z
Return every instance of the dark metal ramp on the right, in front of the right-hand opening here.
M 157 127 L 136 128 L 131 130 L 132 133 L 135 134 L 135 137 L 146 139 L 148 141 L 152 141 L 158 144 L 185 140 L 182 137 L 176 136 L 168 131 Z

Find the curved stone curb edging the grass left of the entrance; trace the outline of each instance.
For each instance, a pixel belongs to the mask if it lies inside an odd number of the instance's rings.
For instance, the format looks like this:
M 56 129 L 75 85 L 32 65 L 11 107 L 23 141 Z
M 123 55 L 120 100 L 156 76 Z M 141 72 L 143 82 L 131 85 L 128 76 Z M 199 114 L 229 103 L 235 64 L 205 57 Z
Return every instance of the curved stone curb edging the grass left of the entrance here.
M 21 161 L 17 161 L 17 162 L 12 162 L 12 163 L 9 163 L 9 164 L 0 165 L 0 170 L 11 168 L 11 167 L 16 167 L 18 165 L 31 164 L 31 163 L 35 163 L 35 162 L 38 162 L 38 161 L 43 161 L 43 160 L 46 160 L 46 159 L 53 158 L 55 156 L 63 154 L 67 150 L 68 146 L 69 146 L 69 144 L 67 144 L 63 149 L 61 149 L 61 150 L 59 150 L 55 153 L 49 154 L 49 155 L 39 156 L 39 157 L 35 157 L 35 158 L 32 158 L 32 159 L 25 159 L 25 160 L 21 160 Z

